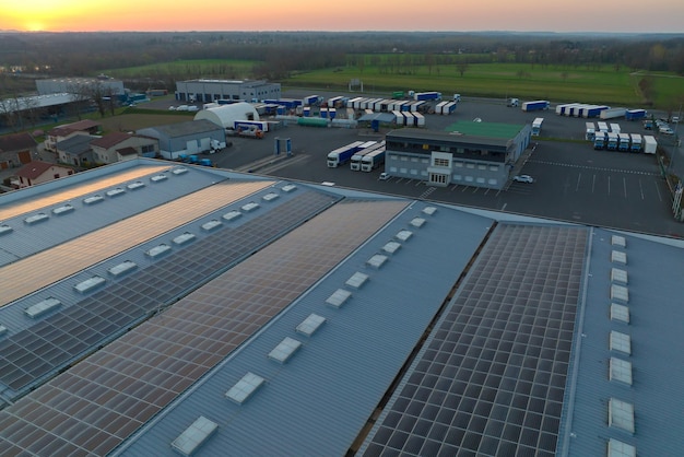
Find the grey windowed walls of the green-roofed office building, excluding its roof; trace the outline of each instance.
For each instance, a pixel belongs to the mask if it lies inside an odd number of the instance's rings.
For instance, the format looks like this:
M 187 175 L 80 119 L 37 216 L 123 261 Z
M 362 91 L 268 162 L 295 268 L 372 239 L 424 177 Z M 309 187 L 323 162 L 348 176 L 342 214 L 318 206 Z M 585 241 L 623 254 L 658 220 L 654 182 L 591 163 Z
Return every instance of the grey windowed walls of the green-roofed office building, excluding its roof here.
M 431 186 L 464 186 L 503 189 L 510 171 L 529 144 L 531 129 L 523 127 L 506 148 L 482 145 L 455 139 L 444 144 L 444 136 L 429 139 L 402 139 L 408 147 L 399 150 L 388 141 L 385 172 L 391 176 L 421 179 Z M 439 138 L 439 141 L 437 141 Z

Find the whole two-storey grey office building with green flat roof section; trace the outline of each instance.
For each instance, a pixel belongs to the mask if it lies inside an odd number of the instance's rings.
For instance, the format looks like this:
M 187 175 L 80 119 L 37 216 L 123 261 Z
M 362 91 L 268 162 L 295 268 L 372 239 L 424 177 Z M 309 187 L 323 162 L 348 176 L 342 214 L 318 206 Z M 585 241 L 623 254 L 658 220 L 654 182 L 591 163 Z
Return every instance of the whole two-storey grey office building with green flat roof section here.
M 529 125 L 494 122 L 456 122 L 444 132 L 393 130 L 386 136 L 385 171 L 431 186 L 502 189 L 530 137 Z

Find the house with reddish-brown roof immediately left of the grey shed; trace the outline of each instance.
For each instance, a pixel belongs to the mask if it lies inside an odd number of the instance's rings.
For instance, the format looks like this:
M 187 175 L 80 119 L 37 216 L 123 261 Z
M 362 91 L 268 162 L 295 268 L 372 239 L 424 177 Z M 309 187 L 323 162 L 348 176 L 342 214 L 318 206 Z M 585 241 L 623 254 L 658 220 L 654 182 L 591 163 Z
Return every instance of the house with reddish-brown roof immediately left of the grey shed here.
M 91 141 L 95 162 L 110 164 L 137 156 L 154 157 L 160 149 L 155 138 L 113 132 Z

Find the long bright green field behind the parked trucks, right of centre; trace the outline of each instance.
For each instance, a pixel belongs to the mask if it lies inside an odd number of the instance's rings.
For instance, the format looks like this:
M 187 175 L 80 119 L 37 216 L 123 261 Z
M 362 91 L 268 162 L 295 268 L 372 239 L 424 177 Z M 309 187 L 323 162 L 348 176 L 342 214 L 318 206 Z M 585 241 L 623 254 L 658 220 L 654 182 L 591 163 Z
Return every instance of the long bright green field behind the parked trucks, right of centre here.
M 432 71 L 431 71 L 432 70 Z M 364 90 L 391 94 L 393 91 L 438 91 L 445 95 L 460 93 L 465 96 L 518 97 L 521 99 L 550 99 L 552 102 L 583 102 L 608 105 L 647 107 L 648 102 L 639 90 L 645 74 L 613 67 L 586 69 L 559 68 L 529 63 L 470 63 L 461 75 L 457 65 L 412 67 L 404 74 L 387 67 L 365 65 L 357 67 L 318 70 L 294 75 L 284 82 L 291 86 L 309 86 L 343 90 L 350 80 L 359 79 Z M 684 96 L 684 78 L 673 74 L 650 74 L 653 102 L 667 109 L 672 101 Z M 671 107 L 672 108 L 672 107 Z

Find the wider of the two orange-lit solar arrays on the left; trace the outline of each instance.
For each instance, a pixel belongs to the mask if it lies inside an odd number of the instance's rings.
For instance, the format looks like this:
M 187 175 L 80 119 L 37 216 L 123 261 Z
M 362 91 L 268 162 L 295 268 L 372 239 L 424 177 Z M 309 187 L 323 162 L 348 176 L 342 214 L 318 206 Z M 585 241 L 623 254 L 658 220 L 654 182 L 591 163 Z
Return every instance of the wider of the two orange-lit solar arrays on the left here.
M 270 184 L 220 183 L 8 265 L 0 270 L 0 291 L 3 291 L 0 306 L 225 207 Z

